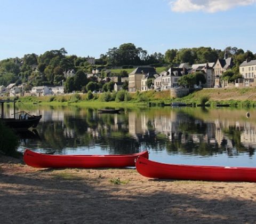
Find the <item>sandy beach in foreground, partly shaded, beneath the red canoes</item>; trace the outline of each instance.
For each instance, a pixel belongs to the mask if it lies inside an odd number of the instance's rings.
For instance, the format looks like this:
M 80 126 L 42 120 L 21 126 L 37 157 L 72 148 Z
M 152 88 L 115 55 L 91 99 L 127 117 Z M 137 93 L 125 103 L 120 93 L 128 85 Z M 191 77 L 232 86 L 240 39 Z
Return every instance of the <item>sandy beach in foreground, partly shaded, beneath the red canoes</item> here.
M 256 183 L 134 169 L 34 169 L 0 156 L 1 223 L 256 223 Z

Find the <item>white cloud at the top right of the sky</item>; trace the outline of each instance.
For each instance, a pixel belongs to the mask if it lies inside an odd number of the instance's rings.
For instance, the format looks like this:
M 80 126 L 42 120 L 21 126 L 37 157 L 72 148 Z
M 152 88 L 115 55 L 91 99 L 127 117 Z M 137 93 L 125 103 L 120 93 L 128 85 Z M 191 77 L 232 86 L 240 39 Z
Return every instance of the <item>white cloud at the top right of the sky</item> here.
M 174 12 L 218 12 L 226 11 L 236 6 L 252 5 L 256 0 L 175 0 L 170 1 Z

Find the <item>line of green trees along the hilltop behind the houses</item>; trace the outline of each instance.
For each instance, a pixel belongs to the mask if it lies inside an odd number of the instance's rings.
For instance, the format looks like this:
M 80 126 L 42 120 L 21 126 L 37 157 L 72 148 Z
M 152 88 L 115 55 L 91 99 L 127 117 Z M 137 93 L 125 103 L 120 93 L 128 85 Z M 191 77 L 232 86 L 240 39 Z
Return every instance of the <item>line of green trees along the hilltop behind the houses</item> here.
M 246 59 L 256 59 L 256 54 L 237 47 L 226 47 L 224 50 L 212 49 L 211 47 L 193 47 L 183 49 L 168 49 L 165 54 L 148 54 L 141 47 L 136 47 L 132 43 L 125 43 L 119 47 L 109 49 L 100 58 L 95 59 L 95 65 L 87 61 L 87 57 L 77 57 L 77 55 L 67 55 L 64 48 L 60 50 L 46 51 L 41 55 L 35 53 L 25 54 L 23 58 L 9 58 L 0 61 L 0 86 L 7 86 L 10 83 L 26 83 L 25 90 L 33 86 L 41 85 L 61 85 L 66 83 L 67 92 L 88 91 L 94 89 L 113 89 L 113 83 L 105 85 L 98 82 L 95 77 L 86 78 L 87 73 L 91 73 L 93 68 L 100 68 L 101 77 L 109 76 L 109 69 L 113 67 L 133 68 L 133 66 L 151 65 L 154 67 L 175 67 L 180 63 L 206 63 L 223 59 L 225 52 L 234 59 L 235 66 L 233 73 L 239 73 L 239 65 Z M 64 71 L 74 69 L 76 75 L 66 80 Z M 126 71 L 121 71 L 117 76 L 127 76 Z M 227 77 L 229 77 L 228 74 Z M 91 87 L 87 88 L 86 85 Z M 104 86 L 105 85 L 105 86 Z M 126 84 L 127 85 L 127 84 Z M 104 87 L 103 87 L 104 86 Z

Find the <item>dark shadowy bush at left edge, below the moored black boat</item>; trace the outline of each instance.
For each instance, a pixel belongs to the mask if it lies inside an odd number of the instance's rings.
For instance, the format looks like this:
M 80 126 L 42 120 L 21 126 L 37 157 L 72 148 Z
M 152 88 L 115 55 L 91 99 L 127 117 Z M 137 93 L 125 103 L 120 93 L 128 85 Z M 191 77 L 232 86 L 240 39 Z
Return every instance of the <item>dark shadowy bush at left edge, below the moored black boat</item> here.
M 0 121 L 0 151 L 8 156 L 17 157 L 19 153 L 19 139 L 14 132 Z

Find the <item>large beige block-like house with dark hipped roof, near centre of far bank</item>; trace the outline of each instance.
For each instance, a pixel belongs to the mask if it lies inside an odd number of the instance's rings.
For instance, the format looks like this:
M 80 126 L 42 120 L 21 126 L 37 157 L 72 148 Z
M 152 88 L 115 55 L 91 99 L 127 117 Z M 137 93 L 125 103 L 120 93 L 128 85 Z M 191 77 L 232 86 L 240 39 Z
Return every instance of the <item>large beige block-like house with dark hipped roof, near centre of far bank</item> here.
M 141 79 L 145 74 L 156 74 L 156 70 L 151 66 L 143 66 L 137 67 L 129 74 L 129 92 L 141 91 Z

